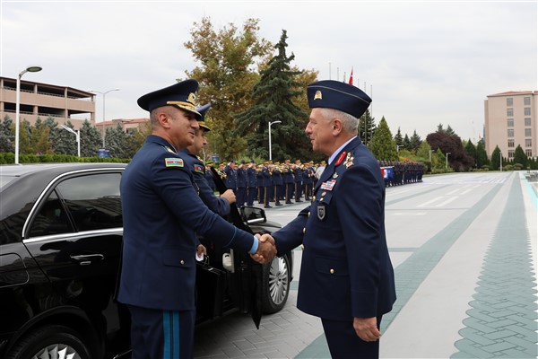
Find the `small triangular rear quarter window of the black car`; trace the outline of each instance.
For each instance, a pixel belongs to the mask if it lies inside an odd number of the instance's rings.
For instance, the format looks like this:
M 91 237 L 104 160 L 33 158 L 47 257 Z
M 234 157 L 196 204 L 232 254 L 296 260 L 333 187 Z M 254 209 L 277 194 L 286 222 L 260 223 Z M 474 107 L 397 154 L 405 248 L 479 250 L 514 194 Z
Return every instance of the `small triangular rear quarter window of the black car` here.
M 68 232 L 74 232 L 73 227 L 65 215 L 65 208 L 56 195 L 56 191 L 53 191 L 31 223 L 28 236 L 33 238 Z

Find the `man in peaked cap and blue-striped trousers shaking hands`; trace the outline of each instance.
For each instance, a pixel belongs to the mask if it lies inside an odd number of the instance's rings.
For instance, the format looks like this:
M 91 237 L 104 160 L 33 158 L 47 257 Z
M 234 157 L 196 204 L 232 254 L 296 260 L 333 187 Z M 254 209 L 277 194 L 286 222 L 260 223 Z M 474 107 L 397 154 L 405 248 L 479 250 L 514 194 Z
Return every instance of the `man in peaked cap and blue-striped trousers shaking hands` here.
M 178 153 L 194 144 L 199 128 L 197 90 L 195 80 L 186 80 L 138 99 L 150 111 L 152 135 L 120 184 L 124 237 L 118 301 L 131 313 L 133 359 L 193 357 L 196 234 L 266 260 L 273 254 L 272 244 L 204 205 L 185 155 Z

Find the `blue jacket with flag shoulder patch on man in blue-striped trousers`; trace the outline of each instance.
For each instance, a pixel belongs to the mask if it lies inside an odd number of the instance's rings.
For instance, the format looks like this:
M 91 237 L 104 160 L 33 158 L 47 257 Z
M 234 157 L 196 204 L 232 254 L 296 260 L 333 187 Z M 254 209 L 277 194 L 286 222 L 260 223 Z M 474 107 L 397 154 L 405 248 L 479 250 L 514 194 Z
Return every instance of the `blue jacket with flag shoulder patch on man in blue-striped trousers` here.
M 120 184 L 124 221 L 118 300 L 166 311 L 195 309 L 196 233 L 247 252 L 253 236 L 204 205 L 184 155 L 148 136 Z

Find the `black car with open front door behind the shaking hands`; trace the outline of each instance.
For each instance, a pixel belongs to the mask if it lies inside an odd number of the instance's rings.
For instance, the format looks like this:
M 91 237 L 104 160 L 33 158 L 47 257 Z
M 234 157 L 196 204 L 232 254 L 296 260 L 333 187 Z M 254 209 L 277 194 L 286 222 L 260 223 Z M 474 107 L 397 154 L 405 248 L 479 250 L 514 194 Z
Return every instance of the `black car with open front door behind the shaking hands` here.
M 0 166 L 0 357 L 111 358 L 129 349 L 129 314 L 115 300 L 120 269 L 120 163 Z M 236 208 L 237 212 L 237 208 Z M 239 213 L 238 213 L 239 215 Z M 262 209 L 234 224 L 273 232 Z M 282 309 L 292 253 L 265 266 L 201 239 L 197 320 Z M 256 324 L 257 325 L 257 324 Z

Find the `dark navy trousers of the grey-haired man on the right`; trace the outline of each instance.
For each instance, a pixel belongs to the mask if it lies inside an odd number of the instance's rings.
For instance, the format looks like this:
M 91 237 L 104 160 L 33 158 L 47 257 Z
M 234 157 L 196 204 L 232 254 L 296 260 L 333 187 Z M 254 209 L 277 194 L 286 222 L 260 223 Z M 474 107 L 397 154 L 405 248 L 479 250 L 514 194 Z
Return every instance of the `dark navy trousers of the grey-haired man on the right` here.
M 353 321 L 321 319 L 325 338 L 333 359 L 378 358 L 379 340 L 365 342 L 355 332 Z M 377 318 L 377 328 L 381 317 Z

